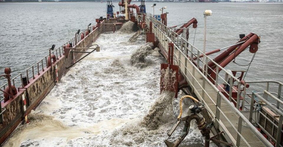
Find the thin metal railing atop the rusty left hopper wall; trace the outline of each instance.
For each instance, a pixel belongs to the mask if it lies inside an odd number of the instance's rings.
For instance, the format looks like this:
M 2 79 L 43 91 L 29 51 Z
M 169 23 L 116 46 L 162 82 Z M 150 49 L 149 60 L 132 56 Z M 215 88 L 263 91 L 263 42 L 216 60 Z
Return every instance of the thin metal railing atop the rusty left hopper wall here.
M 92 28 L 93 28 L 92 26 L 89 27 L 90 32 L 93 31 Z M 86 36 L 85 35 L 86 31 L 88 31 L 88 29 L 81 31 L 79 34 L 77 34 L 75 37 L 73 37 L 72 39 L 70 39 L 69 41 L 64 43 L 62 46 L 53 50 L 51 52 L 51 54 L 54 54 L 56 59 L 60 59 L 64 54 L 63 46 L 66 46 L 67 44 L 70 44 L 70 43 L 73 44 L 73 46 L 76 46 L 76 44 L 82 40 L 81 34 L 84 34 L 84 36 Z M 99 31 L 99 30 L 96 29 L 95 31 Z M 48 65 L 47 65 L 48 57 L 49 57 L 49 54 L 47 56 L 45 56 L 43 59 L 41 59 L 40 61 L 38 61 L 37 63 L 35 63 L 34 65 L 30 66 L 28 69 L 26 69 L 24 73 L 18 74 L 17 76 L 12 78 L 11 79 L 12 85 L 14 85 L 17 89 L 19 87 L 24 87 L 23 77 L 27 77 L 27 79 L 28 79 L 27 82 L 29 83 L 30 80 L 33 80 L 33 79 L 36 78 L 36 76 L 42 74 L 42 72 L 44 72 L 48 68 Z M 2 86 L 0 86 L 0 89 L 2 89 L 4 91 L 6 87 L 8 87 L 8 82 L 6 82 Z M 0 96 L 1 96 L 1 98 L 4 97 L 3 92 L 1 92 L 1 91 L 0 91 Z M 3 99 L 1 99 L 1 101 L 3 101 Z

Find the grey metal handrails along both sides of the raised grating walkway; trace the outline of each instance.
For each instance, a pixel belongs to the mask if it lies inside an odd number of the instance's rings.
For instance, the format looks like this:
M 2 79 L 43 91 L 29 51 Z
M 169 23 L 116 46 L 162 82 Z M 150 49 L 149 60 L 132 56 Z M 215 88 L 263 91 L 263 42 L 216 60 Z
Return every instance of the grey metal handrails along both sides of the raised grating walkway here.
M 176 44 L 176 42 L 175 42 L 175 39 L 176 39 L 176 37 L 174 37 L 174 38 L 172 38 L 173 36 L 175 36 L 176 35 L 176 33 L 174 32 L 174 31 L 172 31 L 170 28 L 167 28 L 167 26 L 165 26 L 164 24 L 162 24 L 162 23 L 160 23 L 159 21 L 157 21 L 155 18 L 153 18 L 152 16 L 150 16 L 150 18 L 148 18 L 148 17 L 146 17 L 146 22 L 147 22 L 147 24 L 149 25 L 149 21 L 153 21 L 153 23 L 152 23 L 152 26 L 153 26 L 153 31 L 154 31 L 154 34 L 156 34 L 156 36 L 157 36 L 157 39 L 159 39 L 159 40 L 162 40 L 162 39 L 164 39 L 164 37 L 163 36 L 165 36 L 165 38 L 170 42 L 170 41 L 172 41 L 172 42 L 174 42 L 174 44 Z M 159 27 L 160 26 L 160 27 Z M 164 30 L 164 31 L 163 31 Z M 170 32 L 171 31 L 171 32 Z M 165 33 L 164 33 L 165 32 Z M 170 32 L 170 33 L 169 33 Z M 166 34 L 167 33 L 167 34 Z M 168 35 L 168 34 L 173 34 L 173 35 Z M 159 35 L 163 35 L 161 38 L 159 38 Z M 179 43 L 179 40 L 182 40 L 183 42 L 185 42 L 185 43 L 187 43 L 187 44 L 189 44 L 190 46 L 191 46 L 191 48 L 193 49 L 193 48 L 195 48 L 197 51 L 198 51 L 198 61 L 200 61 L 200 59 L 199 59 L 199 54 L 200 53 L 203 53 L 202 51 L 200 51 L 199 49 L 197 49 L 195 46 L 193 46 L 192 44 L 190 44 L 188 41 L 186 41 L 185 39 L 183 39 L 180 35 L 178 35 L 177 34 L 177 43 Z M 164 42 L 164 40 L 162 40 L 163 42 Z M 162 42 L 162 41 L 160 41 L 160 42 Z M 162 43 L 163 44 L 163 43 Z M 165 45 L 166 45 L 166 42 L 165 42 Z M 186 48 L 186 46 L 184 46 L 185 48 Z M 264 138 L 264 136 L 262 136 L 262 134 L 251 124 L 251 122 L 249 122 L 249 120 L 233 105 L 233 103 L 231 103 L 227 98 L 226 98 L 226 96 L 224 96 L 223 95 L 223 93 L 221 93 L 219 90 L 218 90 L 218 88 L 217 87 L 215 87 L 215 85 L 213 84 L 213 83 L 211 83 L 210 82 L 210 80 L 207 78 L 207 76 L 205 75 L 205 73 L 202 73 L 199 69 L 198 69 L 198 67 L 195 65 L 195 64 L 193 64 L 192 63 L 192 61 L 183 53 L 183 51 L 179 48 L 179 46 L 178 45 L 175 45 L 175 48 L 177 49 L 177 51 L 179 52 L 179 56 L 180 56 L 180 54 L 183 56 L 183 57 L 185 57 L 185 61 L 188 61 L 190 64 L 191 64 L 191 66 L 193 66 L 193 69 L 196 69 L 197 70 L 197 72 L 202 76 L 202 78 L 204 79 L 204 81 L 207 81 L 207 83 L 215 90 L 215 92 L 217 92 L 218 93 L 218 95 L 221 97 L 221 100 L 225 103 L 225 105 L 228 105 L 230 108 L 231 108 L 231 110 L 232 111 L 234 111 L 236 114 L 237 114 L 237 116 L 239 116 L 239 118 L 241 118 L 240 120 L 239 120 L 239 124 L 240 123 L 242 123 L 242 121 L 243 122 L 245 122 L 246 123 L 246 125 L 249 127 L 249 129 L 251 130 L 251 132 L 253 132 L 254 134 L 255 134 L 255 136 L 256 137 L 258 137 L 263 143 L 264 143 L 264 145 L 266 145 L 266 146 L 272 146 L 272 144 L 266 139 L 266 138 Z M 190 49 L 189 48 L 187 48 L 187 50 L 188 51 L 190 51 Z M 192 54 L 192 50 L 190 51 L 191 52 L 191 54 Z M 174 53 L 175 54 L 175 53 Z M 176 54 L 175 54 L 176 55 Z M 176 55 L 177 56 L 177 55 Z M 206 56 L 205 54 L 204 54 L 204 56 Z M 232 74 L 230 74 L 228 71 L 226 71 L 223 67 L 221 67 L 221 66 L 219 66 L 216 62 L 214 62 L 210 57 L 208 57 L 208 56 L 206 56 L 207 57 L 207 60 L 209 59 L 209 60 L 211 60 L 216 66 L 218 66 L 219 67 L 219 69 L 222 69 L 225 73 L 227 73 L 229 76 L 231 76 L 235 81 L 237 81 L 238 82 L 238 85 L 240 85 L 241 86 L 241 81 L 240 80 L 238 80 L 235 76 L 233 76 Z M 179 60 L 180 61 L 180 60 Z M 204 64 L 205 64 L 205 62 L 204 61 L 202 61 L 201 60 L 201 62 L 203 62 Z M 181 62 L 182 63 L 182 62 Z M 181 63 L 179 63 L 179 66 L 180 66 L 180 64 Z M 206 63 L 207 63 L 207 61 L 206 61 Z M 184 64 L 184 63 L 182 63 L 182 64 Z M 198 66 L 199 66 L 199 64 L 198 64 Z M 185 70 L 186 71 L 188 71 L 188 69 L 187 69 L 187 67 L 185 67 Z M 218 70 L 217 70 L 218 71 Z M 216 72 L 217 72 L 216 71 Z M 190 72 L 190 71 L 189 71 Z M 191 73 L 190 73 L 191 74 Z M 187 76 L 186 74 L 185 74 L 185 76 Z M 219 76 L 219 75 L 218 75 Z M 197 81 L 197 84 L 198 85 L 200 85 L 200 83 L 198 83 L 198 81 Z M 216 84 L 218 84 L 218 83 L 216 83 Z M 233 84 L 233 83 L 232 83 Z M 230 82 L 230 85 L 231 85 L 231 82 Z M 201 85 L 200 85 L 201 86 Z M 232 86 L 231 86 L 232 87 Z M 201 88 L 204 90 L 204 88 L 203 88 L 203 86 L 201 86 Z M 233 88 L 233 87 L 232 87 Z M 238 93 L 239 93 L 239 89 L 238 89 Z M 205 94 L 207 94 L 207 93 L 205 93 Z M 239 94 L 238 94 L 239 95 Z M 240 95 L 239 95 L 240 96 Z M 198 96 L 200 99 L 202 99 L 202 96 Z M 202 99 L 203 100 L 203 99 Z M 215 103 L 213 103 L 213 105 L 215 105 Z M 217 105 L 215 105 L 215 106 L 217 106 Z M 225 116 L 225 114 L 223 113 L 223 111 L 220 109 L 220 108 L 218 108 L 217 107 L 217 109 L 219 109 L 219 113 L 222 113 L 222 115 L 224 115 L 224 117 L 226 118 L 226 120 L 230 123 L 230 124 L 232 124 L 231 123 L 231 121 Z M 217 111 L 216 111 L 217 112 Z M 218 118 L 219 119 L 219 118 Z M 217 120 L 217 121 L 221 121 L 221 119 L 219 119 L 219 120 Z M 239 128 L 240 127 L 240 128 Z M 235 126 L 234 125 L 232 125 L 232 128 L 233 128 L 233 130 L 235 130 L 236 132 L 237 132 L 237 138 L 235 138 L 235 140 L 237 141 L 237 143 L 235 143 L 237 146 L 239 146 L 240 145 L 240 140 L 239 140 L 239 138 L 242 138 L 243 139 L 243 141 L 245 142 L 245 143 L 247 143 L 246 141 L 245 141 L 245 138 L 243 138 L 243 136 L 241 135 L 241 125 L 240 126 L 238 126 L 238 130 L 235 128 Z M 239 129 L 240 129 L 240 132 L 239 132 Z M 239 137 L 239 138 L 238 138 Z M 249 145 L 249 144 L 247 144 L 247 145 Z

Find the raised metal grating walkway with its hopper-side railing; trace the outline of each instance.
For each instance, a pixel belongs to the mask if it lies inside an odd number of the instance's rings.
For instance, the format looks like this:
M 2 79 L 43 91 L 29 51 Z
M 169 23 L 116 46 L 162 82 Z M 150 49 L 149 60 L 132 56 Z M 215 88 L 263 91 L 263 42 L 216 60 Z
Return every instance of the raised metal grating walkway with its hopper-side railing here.
M 152 22 L 153 32 L 159 41 L 159 46 L 161 46 L 166 53 L 168 53 L 169 49 L 168 44 L 170 42 L 174 43 L 175 65 L 179 66 L 181 73 L 185 76 L 189 86 L 197 95 L 198 99 L 206 104 L 208 112 L 215 118 L 213 121 L 216 128 L 225 132 L 225 138 L 228 142 L 230 140 L 234 146 L 243 147 L 272 146 L 249 122 L 246 118 L 247 115 L 243 115 L 243 113 L 238 111 L 236 107 L 219 92 L 217 87 L 208 80 L 207 76 L 201 73 L 199 68 L 187 57 L 190 56 L 189 54 L 191 54 L 192 57 L 193 52 L 198 52 L 197 65 L 201 66 L 199 63 L 201 61 L 199 55 L 202 54 L 202 52 L 199 49 L 195 48 L 195 46 L 187 42 L 170 28 L 167 28 L 164 24 L 154 19 L 151 14 L 146 14 L 145 20 L 148 26 L 150 22 Z M 185 44 L 185 46 L 183 46 L 183 44 Z M 185 55 L 183 49 L 190 53 Z M 196 57 L 196 54 L 194 55 Z M 206 58 L 212 61 L 209 57 Z M 218 64 L 216 66 L 219 67 Z M 228 73 L 225 69 L 222 69 L 222 71 Z M 238 80 L 233 75 L 231 76 L 236 81 Z M 216 73 L 216 77 L 220 77 L 219 73 Z M 237 82 L 239 83 L 239 81 Z M 218 81 L 215 83 L 218 84 Z

